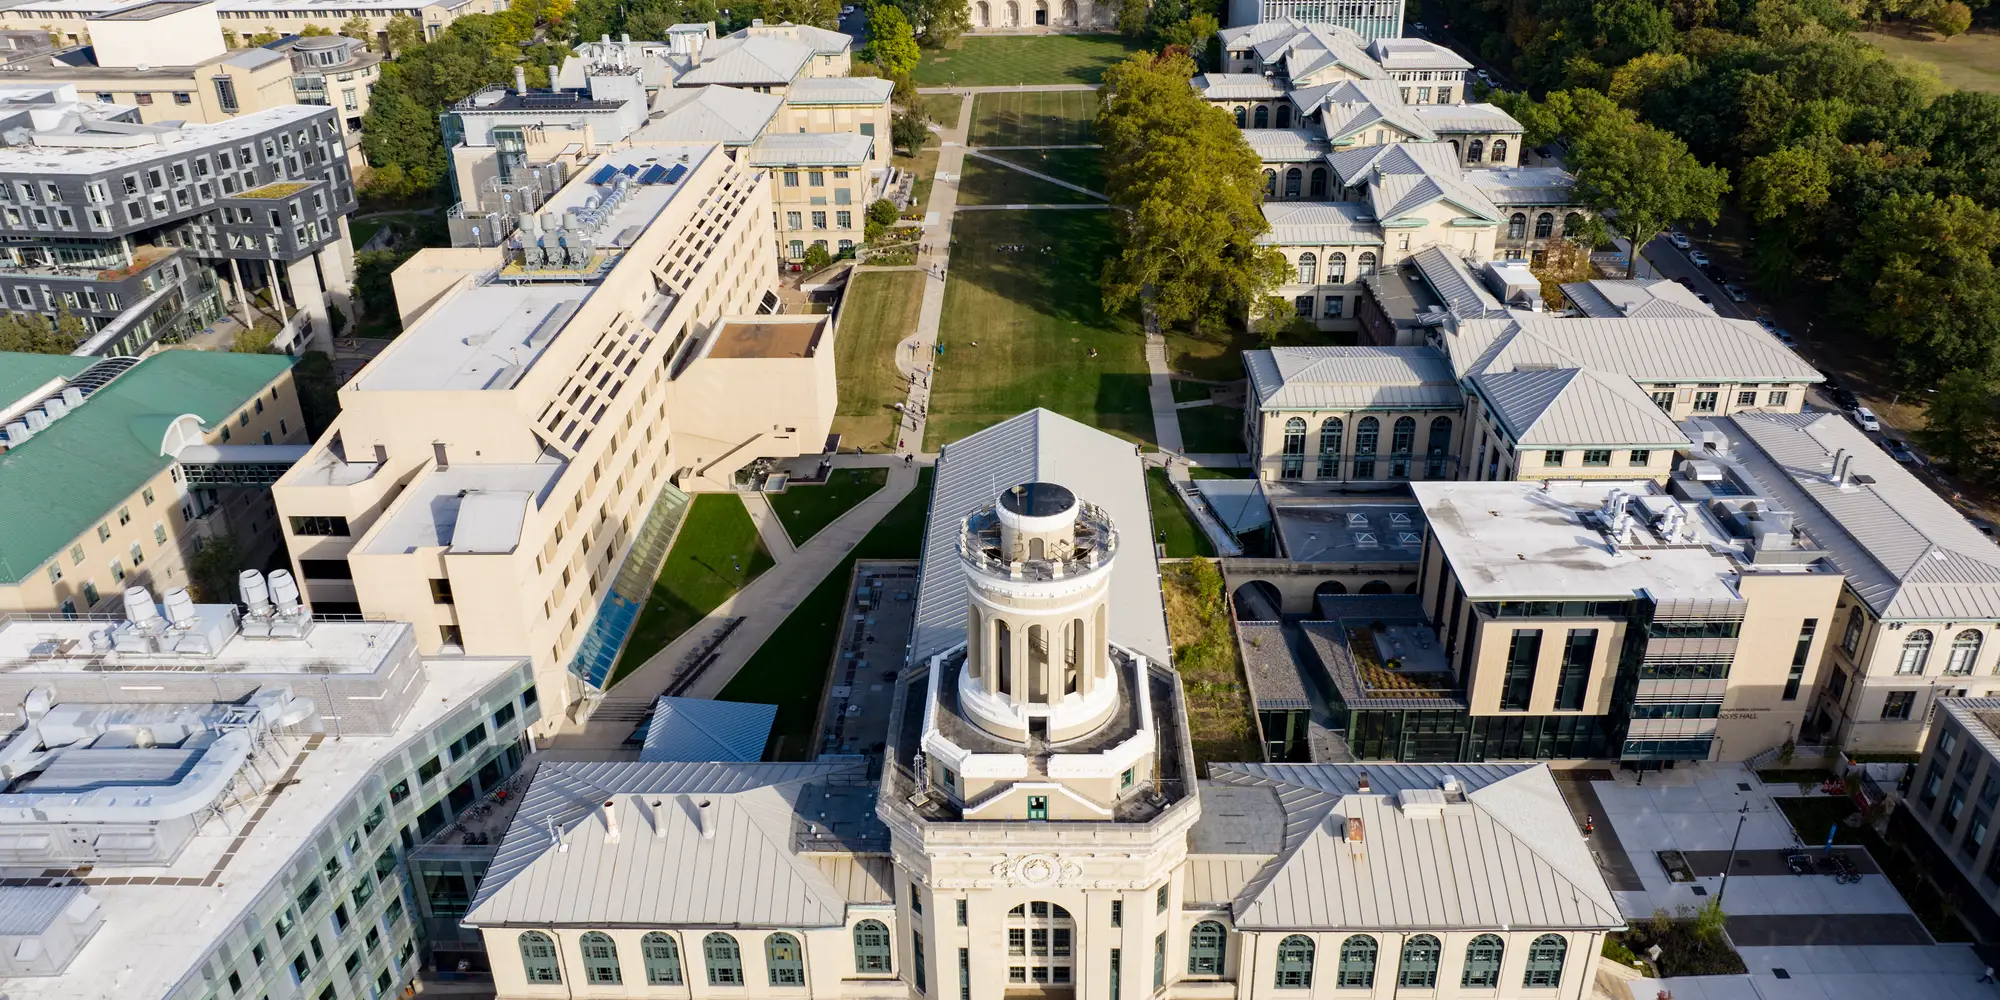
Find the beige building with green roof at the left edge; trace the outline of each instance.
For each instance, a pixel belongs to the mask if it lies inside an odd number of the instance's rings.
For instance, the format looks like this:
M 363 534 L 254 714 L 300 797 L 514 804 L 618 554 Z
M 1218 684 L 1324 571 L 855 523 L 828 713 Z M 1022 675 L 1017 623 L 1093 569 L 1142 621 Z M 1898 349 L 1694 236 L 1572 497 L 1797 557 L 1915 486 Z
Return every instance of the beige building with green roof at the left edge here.
M 190 586 L 188 560 L 216 538 L 264 566 L 268 486 L 304 444 L 284 356 L 0 354 L 0 614 Z

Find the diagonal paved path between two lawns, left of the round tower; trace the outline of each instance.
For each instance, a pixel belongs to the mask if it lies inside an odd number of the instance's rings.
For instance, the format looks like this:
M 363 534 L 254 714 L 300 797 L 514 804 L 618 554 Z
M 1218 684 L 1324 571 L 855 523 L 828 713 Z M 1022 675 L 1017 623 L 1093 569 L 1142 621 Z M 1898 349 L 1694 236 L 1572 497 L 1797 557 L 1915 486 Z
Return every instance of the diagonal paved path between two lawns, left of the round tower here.
M 792 552 L 790 560 L 766 570 L 750 586 L 708 612 L 708 618 L 674 642 L 668 642 L 664 650 L 652 654 L 632 674 L 618 680 L 612 690 L 604 692 L 604 700 L 592 712 L 594 720 L 604 722 L 586 726 L 582 732 L 556 736 L 554 750 L 616 750 L 632 734 L 632 726 L 646 716 L 646 710 L 660 692 L 674 680 L 674 668 L 688 650 L 708 638 L 726 618 L 742 618 L 736 632 L 722 642 L 718 660 L 682 694 L 688 698 L 714 698 L 722 692 L 730 678 L 750 660 L 750 654 L 764 646 L 764 640 L 784 624 L 792 608 L 806 600 L 806 594 L 812 594 L 812 588 L 820 586 L 820 580 L 834 566 L 840 566 L 840 560 L 874 530 L 876 522 L 916 488 L 916 468 L 904 466 L 900 456 L 840 456 L 834 462 L 834 468 L 862 466 L 886 466 L 890 470 L 888 484 L 826 528 L 820 528 L 818 534 Z

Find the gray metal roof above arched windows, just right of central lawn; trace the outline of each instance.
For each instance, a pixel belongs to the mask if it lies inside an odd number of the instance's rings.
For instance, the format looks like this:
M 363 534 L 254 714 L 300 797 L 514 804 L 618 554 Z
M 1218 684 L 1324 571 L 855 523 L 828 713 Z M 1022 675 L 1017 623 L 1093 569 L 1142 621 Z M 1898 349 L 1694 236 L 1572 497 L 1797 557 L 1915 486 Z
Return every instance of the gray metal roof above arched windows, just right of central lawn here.
M 1264 410 L 1458 408 L 1452 364 L 1432 348 L 1246 350 L 1250 392 Z

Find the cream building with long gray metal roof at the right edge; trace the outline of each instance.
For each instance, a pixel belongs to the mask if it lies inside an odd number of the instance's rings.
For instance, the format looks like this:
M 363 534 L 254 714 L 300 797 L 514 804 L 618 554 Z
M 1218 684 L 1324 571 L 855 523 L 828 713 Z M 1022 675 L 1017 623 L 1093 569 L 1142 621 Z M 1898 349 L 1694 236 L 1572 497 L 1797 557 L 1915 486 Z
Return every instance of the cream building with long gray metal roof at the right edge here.
M 1694 420 L 1690 458 L 1732 464 L 1826 548 L 1846 586 L 1826 624 L 1812 736 L 1924 746 L 1946 698 L 2000 696 L 2000 546 L 1840 414 Z

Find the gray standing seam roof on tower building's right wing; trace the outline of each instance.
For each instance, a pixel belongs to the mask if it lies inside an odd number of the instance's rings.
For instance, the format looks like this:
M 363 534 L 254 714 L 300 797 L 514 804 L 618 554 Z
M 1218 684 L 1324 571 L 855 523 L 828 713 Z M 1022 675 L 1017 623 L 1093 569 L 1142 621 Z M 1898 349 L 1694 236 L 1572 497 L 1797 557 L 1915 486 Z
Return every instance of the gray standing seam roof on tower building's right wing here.
M 1470 808 L 1404 814 L 1400 790 L 1446 776 Z M 1210 782 L 1270 786 L 1284 808 L 1284 850 L 1236 896 L 1238 928 L 1626 926 L 1546 764 L 1210 764 Z M 1346 818 L 1362 820 L 1360 850 Z

